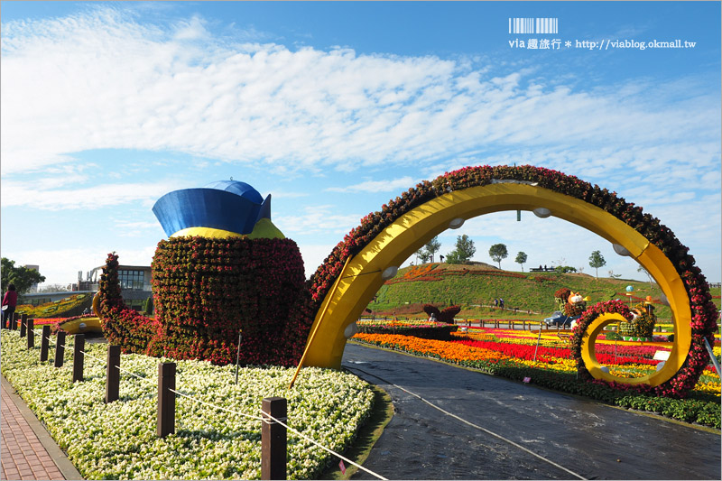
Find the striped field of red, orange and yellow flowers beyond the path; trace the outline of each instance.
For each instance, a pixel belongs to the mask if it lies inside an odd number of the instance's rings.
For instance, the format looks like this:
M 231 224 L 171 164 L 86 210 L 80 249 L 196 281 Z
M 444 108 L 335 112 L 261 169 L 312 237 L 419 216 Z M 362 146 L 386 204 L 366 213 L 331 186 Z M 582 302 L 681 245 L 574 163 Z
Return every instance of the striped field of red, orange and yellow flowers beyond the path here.
M 362 334 L 354 340 L 415 356 L 426 356 L 453 364 L 480 369 L 487 374 L 501 375 L 521 381 L 531 378 L 532 384 L 576 393 L 627 408 L 658 412 L 681 421 L 720 427 L 720 381 L 714 367 L 708 366 L 688 399 L 671 399 L 651 393 L 613 389 L 601 382 L 579 382 L 577 362 L 571 357 L 569 340 L 556 331 L 542 332 L 537 349 L 538 331 L 498 328 L 468 328 L 453 333 L 450 341 L 413 338 L 392 334 Z M 654 372 L 659 361 L 653 359 L 658 350 L 670 350 L 671 343 L 632 343 L 597 339 L 597 360 L 610 372 L 622 377 L 638 377 Z M 719 353 L 716 342 L 715 354 Z M 536 355 L 536 356 L 535 356 Z M 536 360 L 534 358 L 536 357 Z M 619 389 L 621 388 L 621 390 Z

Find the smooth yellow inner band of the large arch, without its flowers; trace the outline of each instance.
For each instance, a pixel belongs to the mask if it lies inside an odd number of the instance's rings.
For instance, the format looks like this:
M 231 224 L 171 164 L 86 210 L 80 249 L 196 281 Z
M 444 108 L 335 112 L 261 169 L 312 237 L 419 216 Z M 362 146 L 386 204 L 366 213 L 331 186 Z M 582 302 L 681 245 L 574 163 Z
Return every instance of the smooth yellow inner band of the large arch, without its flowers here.
M 430 238 L 449 228 L 457 218 L 472 217 L 503 210 L 548 208 L 551 215 L 584 227 L 613 244 L 622 245 L 651 273 L 670 301 L 674 323 L 674 345 L 669 360 L 657 373 L 642 378 L 651 385 L 662 384 L 677 373 L 690 351 L 690 299 L 671 261 L 644 236 L 605 210 L 552 190 L 528 183 L 504 181 L 486 186 L 456 190 L 413 208 L 376 236 L 351 258 L 340 274 L 338 286 L 329 291 L 314 319 L 303 365 L 339 368 L 347 334 L 384 284 L 381 273 L 398 266 L 425 245 Z M 601 374 L 600 374 L 601 373 Z M 640 381 L 607 376 L 593 370 L 592 375 L 620 383 Z

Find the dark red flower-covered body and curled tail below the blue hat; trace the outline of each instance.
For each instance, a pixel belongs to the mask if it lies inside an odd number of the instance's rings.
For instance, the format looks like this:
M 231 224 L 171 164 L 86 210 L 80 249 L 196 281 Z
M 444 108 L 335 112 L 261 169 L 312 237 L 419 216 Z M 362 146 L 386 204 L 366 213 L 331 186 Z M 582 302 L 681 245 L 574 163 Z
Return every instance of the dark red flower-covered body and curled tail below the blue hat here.
M 224 365 L 295 365 L 314 312 L 301 252 L 290 239 L 162 240 L 152 264 L 156 318 L 125 308 L 117 255 L 101 279 L 104 331 L 125 352 Z M 115 294 L 115 295 L 114 295 Z

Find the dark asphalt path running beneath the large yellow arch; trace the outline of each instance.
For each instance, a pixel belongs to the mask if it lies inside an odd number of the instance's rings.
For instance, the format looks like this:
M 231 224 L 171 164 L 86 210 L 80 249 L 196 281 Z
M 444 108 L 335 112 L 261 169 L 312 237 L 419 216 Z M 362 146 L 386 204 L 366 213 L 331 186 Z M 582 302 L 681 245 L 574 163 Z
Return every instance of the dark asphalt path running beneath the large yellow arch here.
M 718 432 L 373 347 L 347 344 L 342 365 L 393 400 L 364 462 L 389 479 L 722 476 Z

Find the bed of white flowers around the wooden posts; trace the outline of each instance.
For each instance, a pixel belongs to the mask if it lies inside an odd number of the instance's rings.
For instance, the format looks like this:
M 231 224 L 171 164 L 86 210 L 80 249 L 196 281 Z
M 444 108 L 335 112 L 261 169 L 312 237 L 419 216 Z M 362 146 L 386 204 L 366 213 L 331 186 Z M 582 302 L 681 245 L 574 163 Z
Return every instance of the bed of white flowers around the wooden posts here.
M 52 338 L 54 341 L 54 337 Z M 106 344 L 86 344 L 82 383 L 72 380 L 73 337 L 65 364 L 40 362 L 40 336 L 27 349 L 18 331 L 2 332 L 2 372 L 86 479 L 258 479 L 261 421 L 176 396 L 176 432 L 156 437 L 158 364 L 171 359 L 122 355 L 120 399 L 106 404 Z M 200 361 L 176 362 L 176 390 L 218 406 L 260 416 L 265 397 L 288 399 L 295 430 L 342 453 L 370 414 L 374 393 L 354 375 L 303 368 L 292 390 L 294 370 L 241 368 Z M 336 460 L 288 432 L 289 479 L 319 476 Z

